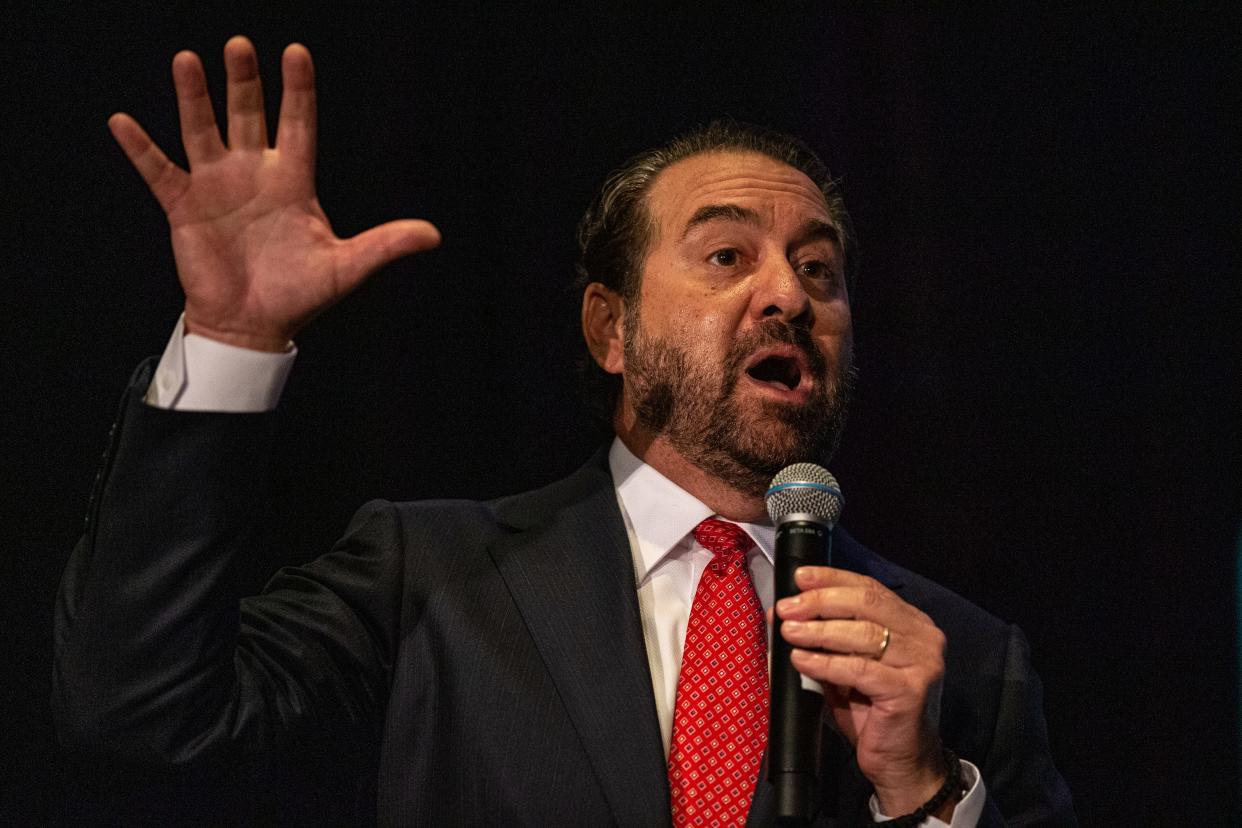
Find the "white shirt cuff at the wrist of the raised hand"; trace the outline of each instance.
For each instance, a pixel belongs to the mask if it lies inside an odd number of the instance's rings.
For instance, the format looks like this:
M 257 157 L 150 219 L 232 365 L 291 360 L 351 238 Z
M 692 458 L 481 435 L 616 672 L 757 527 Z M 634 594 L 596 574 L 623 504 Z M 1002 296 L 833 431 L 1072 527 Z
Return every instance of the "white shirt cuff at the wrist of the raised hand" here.
M 145 400 L 171 411 L 271 411 L 281 400 L 297 355 L 293 343 L 283 354 L 272 354 L 188 334 L 183 314 Z

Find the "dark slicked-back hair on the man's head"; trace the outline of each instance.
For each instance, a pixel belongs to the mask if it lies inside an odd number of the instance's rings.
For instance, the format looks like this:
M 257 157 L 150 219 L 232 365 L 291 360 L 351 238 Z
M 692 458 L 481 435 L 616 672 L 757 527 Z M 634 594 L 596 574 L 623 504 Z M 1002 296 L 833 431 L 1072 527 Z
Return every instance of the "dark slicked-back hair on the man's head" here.
M 621 295 L 628 313 L 637 312 L 642 263 L 656 233 L 647 192 L 666 168 L 692 155 L 719 150 L 760 153 L 792 166 L 818 186 L 828 217 L 841 233 L 846 287 L 853 292 L 857 241 L 838 184 L 823 161 L 792 135 L 735 120 L 713 120 L 662 146 L 638 153 L 604 181 L 578 223 L 578 295 L 591 282 L 599 282 Z M 611 425 L 621 377 L 604 371 L 589 353 L 579 374 L 591 415 L 600 425 Z

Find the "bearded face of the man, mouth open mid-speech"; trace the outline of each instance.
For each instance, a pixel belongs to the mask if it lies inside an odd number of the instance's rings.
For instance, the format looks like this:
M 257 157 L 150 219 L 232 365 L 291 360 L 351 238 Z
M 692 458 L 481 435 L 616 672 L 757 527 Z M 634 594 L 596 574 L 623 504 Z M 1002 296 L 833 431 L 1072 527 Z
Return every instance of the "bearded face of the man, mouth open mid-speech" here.
M 827 463 L 852 386 L 838 232 L 818 187 L 753 153 L 694 155 L 647 196 L 656 237 L 625 318 L 625 395 L 688 461 L 761 493 Z

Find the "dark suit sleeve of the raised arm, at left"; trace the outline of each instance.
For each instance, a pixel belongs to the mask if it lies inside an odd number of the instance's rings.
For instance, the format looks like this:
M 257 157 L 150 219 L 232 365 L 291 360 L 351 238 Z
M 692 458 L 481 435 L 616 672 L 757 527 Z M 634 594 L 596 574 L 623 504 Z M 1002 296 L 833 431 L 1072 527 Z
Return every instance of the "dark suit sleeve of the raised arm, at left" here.
M 164 411 L 139 369 L 57 598 L 53 713 L 78 750 L 185 763 L 379 730 L 401 607 L 400 524 L 358 513 L 334 550 L 240 600 L 271 413 Z

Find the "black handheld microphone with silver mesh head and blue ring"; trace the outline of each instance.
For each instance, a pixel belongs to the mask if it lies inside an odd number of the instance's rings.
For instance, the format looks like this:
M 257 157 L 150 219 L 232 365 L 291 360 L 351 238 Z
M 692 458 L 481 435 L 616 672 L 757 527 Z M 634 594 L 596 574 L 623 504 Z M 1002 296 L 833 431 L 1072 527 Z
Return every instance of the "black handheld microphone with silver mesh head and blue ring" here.
M 841 516 L 841 487 L 815 463 L 786 466 L 773 478 L 764 497 L 776 526 L 775 600 L 800 590 L 794 582 L 799 566 L 832 564 L 832 529 Z M 814 813 L 816 754 L 823 689 L 805 679 L 789 660 L 794 646 L 780 634 L 774 618 L 771 658 L 771 718 L 768 737 L 768 781 L 776 788 L 776 822 L 810 824 Z M 814 689 L 812 689 L 814 688 Z

